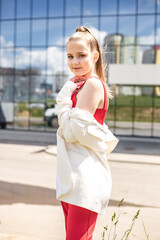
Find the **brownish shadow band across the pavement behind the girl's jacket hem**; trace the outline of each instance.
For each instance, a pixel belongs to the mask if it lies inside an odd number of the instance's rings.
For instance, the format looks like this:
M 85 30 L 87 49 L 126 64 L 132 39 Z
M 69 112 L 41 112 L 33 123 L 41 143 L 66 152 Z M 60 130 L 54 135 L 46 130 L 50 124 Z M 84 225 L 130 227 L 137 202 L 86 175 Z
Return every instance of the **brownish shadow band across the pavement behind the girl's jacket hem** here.
M 14 203 L 35 204 L 35 205 L 60 205 L 56 200 L 56 190 L 46 187 L 32 186 L 20 183 L 0 181 L 0 205 Z M 110 199 L 109 206 L 118 206 L 120 201 Z M 141 204 L 123 202 L 123 207 L 149 207 Z

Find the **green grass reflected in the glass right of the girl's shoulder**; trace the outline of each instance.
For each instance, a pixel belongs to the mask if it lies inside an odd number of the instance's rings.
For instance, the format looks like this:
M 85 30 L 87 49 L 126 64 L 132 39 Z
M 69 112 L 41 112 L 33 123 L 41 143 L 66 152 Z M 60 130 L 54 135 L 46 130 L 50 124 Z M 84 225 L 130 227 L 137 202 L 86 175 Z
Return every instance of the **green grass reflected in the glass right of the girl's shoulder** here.
M 115 109 L 116 103 L 116 109 Z M 151 96 L 117 96 L 110 100 L 106 120 L 160 122 L 160 98 L 154 97 L 154 108 Z

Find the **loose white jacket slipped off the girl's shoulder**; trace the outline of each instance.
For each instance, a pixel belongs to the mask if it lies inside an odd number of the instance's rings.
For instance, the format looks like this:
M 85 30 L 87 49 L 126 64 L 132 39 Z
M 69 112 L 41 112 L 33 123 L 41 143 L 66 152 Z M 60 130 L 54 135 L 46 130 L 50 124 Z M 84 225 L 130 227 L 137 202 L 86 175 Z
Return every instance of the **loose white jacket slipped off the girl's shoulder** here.
M 72 108 L 76 88 L 67 81 L 57 96 L 57 199 L 104 214 L 112 186 L 107 154 L 118 139 L 92 114 Z

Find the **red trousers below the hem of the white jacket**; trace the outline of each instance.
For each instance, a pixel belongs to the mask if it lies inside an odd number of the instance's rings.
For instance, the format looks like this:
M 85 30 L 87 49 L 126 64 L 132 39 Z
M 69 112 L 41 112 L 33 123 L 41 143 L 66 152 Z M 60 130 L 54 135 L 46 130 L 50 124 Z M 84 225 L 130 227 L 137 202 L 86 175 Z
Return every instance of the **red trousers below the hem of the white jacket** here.
M 98 214 L 88 209 L 61 202 L 66 240 L 92 240 Z

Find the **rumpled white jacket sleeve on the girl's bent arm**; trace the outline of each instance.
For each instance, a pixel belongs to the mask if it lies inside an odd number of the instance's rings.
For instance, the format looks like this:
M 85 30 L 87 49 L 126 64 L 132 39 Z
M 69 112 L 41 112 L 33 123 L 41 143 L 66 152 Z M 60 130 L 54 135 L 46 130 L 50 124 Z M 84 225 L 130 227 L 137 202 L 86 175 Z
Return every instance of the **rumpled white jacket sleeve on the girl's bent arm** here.
M 81 145 L 99 152 L 108 152 L 108 142 L 117 140 L 107 126 L 100 125 L 87 111 L 72 108 L 71 95 L 77 85 L 68 81 L 57 96 L 59 126 L 66 142 L 78 141 Z M 110 151 L 109 151 L 110 152 Z

